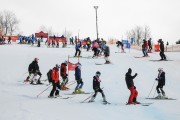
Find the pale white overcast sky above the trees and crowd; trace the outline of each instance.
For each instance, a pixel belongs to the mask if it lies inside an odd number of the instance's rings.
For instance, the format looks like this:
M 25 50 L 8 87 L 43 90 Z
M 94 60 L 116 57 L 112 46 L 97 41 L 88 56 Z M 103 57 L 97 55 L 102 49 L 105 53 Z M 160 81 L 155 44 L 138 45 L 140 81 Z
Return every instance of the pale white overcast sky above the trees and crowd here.
M 0 0 L 0 11 L 13 11 L 20 30 L 30 35 L 40 26 L 62 33 L 96 38 L 94 5 L 98 5 L 99 36 L 125 39 L 136 25 L 148 25 L 156 41 L 180 39 L 180 0 Z M 171 43 L 171 42 L 170 42 Z

